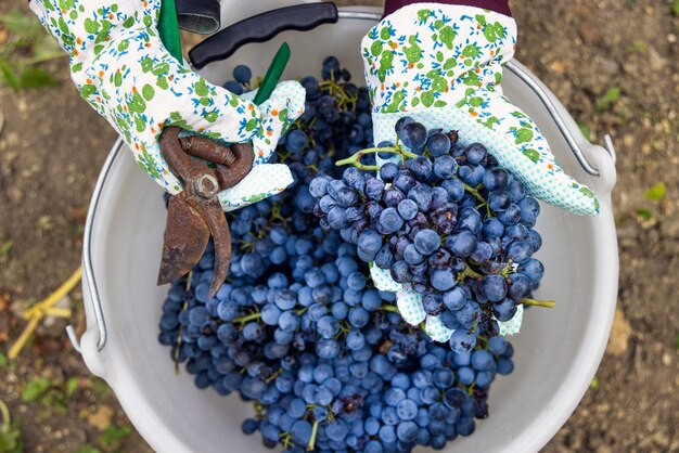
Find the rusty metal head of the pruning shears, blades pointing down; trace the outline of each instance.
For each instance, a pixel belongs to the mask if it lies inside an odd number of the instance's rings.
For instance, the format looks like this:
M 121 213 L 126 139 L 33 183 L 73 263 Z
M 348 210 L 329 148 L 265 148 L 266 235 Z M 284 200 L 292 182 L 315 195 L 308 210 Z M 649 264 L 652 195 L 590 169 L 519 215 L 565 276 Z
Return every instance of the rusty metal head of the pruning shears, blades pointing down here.
M 158 285 L 185 275 L 198 262 L 212 235 L 215 268 L 208 297 L 226 280 L 231 263 L 231 232 L 217 194 L 243 180 L 254 163 L 251 145 L 223 146 L 201 137 L 179 138 L 181 129 L 167 127 L 161 134 L 161 152 L 170 170 L 184 182 L 172 195 L 167 211 Z M 210 168 L 190 155 L 216 165 Z

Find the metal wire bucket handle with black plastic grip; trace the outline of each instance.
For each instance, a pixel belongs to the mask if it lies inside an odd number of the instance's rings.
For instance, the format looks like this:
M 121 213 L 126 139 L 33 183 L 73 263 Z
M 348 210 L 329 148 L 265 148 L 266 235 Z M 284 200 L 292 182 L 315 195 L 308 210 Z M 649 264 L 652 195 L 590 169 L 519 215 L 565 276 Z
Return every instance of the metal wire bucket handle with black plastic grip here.
M 272 10 L 256 16 L 246 18 L 239 23 L 235 23 L 210 38 L 206 39 L 202 43 L 193 48 L 189 54 L 193 65 L 196 68 L 202 68 L 210 62 L 223 60 L 232 55 L 241 46 L 251 42 L 265 42 L 276 35 L 285 30 L 310 30 L 322 24 L 336 23 L 340 18 L 346 20 L 362 20 L 377 22 L 382 17 L 379 13 L 363 12 L 363 11 L 337 11 L 336 7 L 332 2 L 310 3 L 294 5 L 287 8 L 281 8 Z M 259 21 L 266 21 L 267 27 L 253 26 L 255 23 L 259 24 Z M 226 40 L 226 41 L 225 41 Z M 568 143 L 571 151 L 575 155 L 576 159 L 582 167 L 582 169 L 594 177 L 600 177 L 601 172 L 598 168 L 593 167 L 585 153 L 577 143 L 576 138 L 571 132 L 571 129 L 566 126 L 563 118 L 559 113 L 558 106 L 552 102 L 549 94 L 545 89 L 536 81 L 536 79 L 524 70 L 522 67 L 513 62 L 508 62 L 504 66 L 511 70 L 516 77 L 518 77 L 524 83 L 526 83 L 533 92 L 540 99 L 540 102 L 547 108 L 549 115 L 552 117 L 556 127 L 561 131 L 562 135 Z M 604 135 L 605 148 L 611 155 L 613 163 L 615 163 L 615 147 L 611 135 Z M 101 352 L 106 346 L 108 340 L 108 331 L 106 328 L 106 321 L 104 319 L 104 312 L 99 295 L 99 286 L 97 279 L 94 277 L 94 269 L 92 264 L 92 225 L 94 223 L 94 216 L 105 180 L 111 172 L 113 164 L 124 147 L 125 143 L 121 139 L 118 139 L 116 146 L 111 152 L 97 185 L 90 206 L 88 209 L 87 220 L 85 224 L 85 237 L 82 242 L 82 268 L 85 272 L 85 279 L 88 282 L 89 295 L 92 302 L 92 309 L 94 311 L 94 319 L 97 320 L 97 328 L 99 329 L 99 340 L 97 341 L 97 350 Z M 73 325 L 66 327 L 68 338 L 78 352 L 81 352 L 80 341 L 75 333 Z

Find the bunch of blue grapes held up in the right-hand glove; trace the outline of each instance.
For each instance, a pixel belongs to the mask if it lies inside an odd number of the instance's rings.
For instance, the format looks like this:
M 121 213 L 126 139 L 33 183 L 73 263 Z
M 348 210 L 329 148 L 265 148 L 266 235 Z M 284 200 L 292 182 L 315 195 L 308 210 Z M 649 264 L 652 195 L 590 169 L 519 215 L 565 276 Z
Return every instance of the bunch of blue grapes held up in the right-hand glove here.
M 542 244 L 533 229 L 540 209 L 484 145 L 457 146 L 457 133 L 427 131 L 410 117 L 396 133 L 411 151 L 372 150 L 401 158 L 379 178 L 349 167 L 340 179 L 313 179 L 313 211 L 322 228 L 357 245 L 362 261 L 420 293 L 424 311 L 456 331 L 452 350 L 469 351 L 533 301 L 543 273 L 533 258 Z

